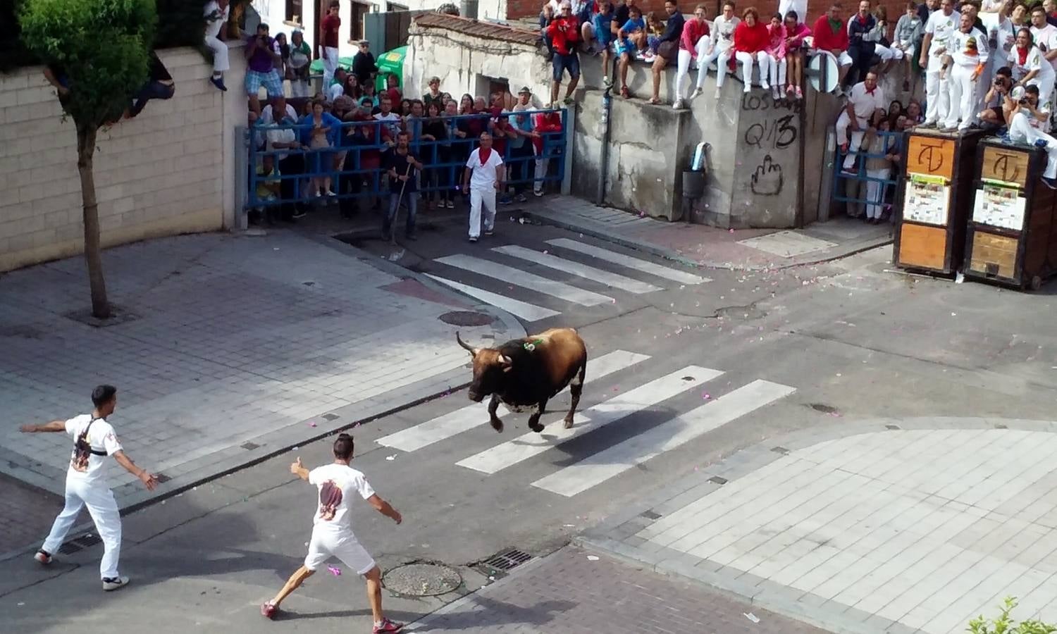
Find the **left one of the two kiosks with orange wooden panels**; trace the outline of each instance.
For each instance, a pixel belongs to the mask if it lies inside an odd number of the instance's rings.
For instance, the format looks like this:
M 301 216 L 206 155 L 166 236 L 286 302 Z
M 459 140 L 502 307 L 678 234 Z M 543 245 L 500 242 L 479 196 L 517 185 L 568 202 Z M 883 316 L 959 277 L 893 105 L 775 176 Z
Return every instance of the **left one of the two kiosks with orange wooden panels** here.
M 892 263 L 953 277 L 965 254 L 980 130 L 914 130 L 906 135 Z

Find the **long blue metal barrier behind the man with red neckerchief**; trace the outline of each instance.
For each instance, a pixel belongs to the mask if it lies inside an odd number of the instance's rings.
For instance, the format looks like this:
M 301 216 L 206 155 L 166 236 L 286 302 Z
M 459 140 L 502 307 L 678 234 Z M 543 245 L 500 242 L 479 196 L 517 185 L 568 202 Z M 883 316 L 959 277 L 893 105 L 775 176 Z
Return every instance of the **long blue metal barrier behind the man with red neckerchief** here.
M 524 189 L 527 187 L 542 188 L 546 183 L 560 183 L 565 171 L 565 143 L 569 130 L 569 115 L 565 110 L 526 110 L 523 112 L 504 112 L 507 125 L 517 128 L 515 117 L 527 115 L 531 117 L 533 131 L 536 131 L 537 116 L 548 113 L 559 113 L 561 129 L 558 131 L 539 132 L 539 152 L 536 138 L 525 137 L 521 149 L 512 147 L 513 138 L 505 139 L 503 163 L 506 168 L 507 185 Z M 322 148 L 308 148 L 302 145 L 296 149 L 274 148 L 267 139 L 268 131 L 293 130 L 296 139 L 305 144 L 312 125 L 270 124 L 254 125 L 247 129 L 245 144 L 248 152 L 248 191 L 245 198 L 245 209 L 261 209 L 268 206 L 293 203 L 309 203 L 314 200 L 349 201 L 364 198 L 388 197 L 388 170 L 385 168 L 385 153 L 395 147 L 396 136 L 392 135 L 392 145 L 382 139 L 383 126 L 406 130 L 410 134 L 411 153 L 423 163 L 419 174 L 419 191 L 429 197 L 451 199 L 457 190 L 461 191 L 463 173 L 469 153 L 478 147 L 480 132 L 477 136 L 466 133 L 459 137 L 455 131 L 460 129 L 460 123 L 468 124 L 477 119 L 476 125 L 481 131 L 492 132 L 489 122 L 492 116 L 458 115 L 442 117 L 448 132 L 445 141 L 420 138 L 422 129 L 429 119 L 405 119 L 405 122 L 382 122 L 377 119 L 365 122 L 341 122 L 335 135 L 337 144 Z M 303 119 L 302 119 L 303 122 Z M 421 122 L 421 124 L 420 124 Z M 465 128 L 467 126 L 462 126 Z M 366 134 L 365 134 L 366 132 Z M 495 133 L 493 133 L 495 138 Z M 495 144 L 493 147 L 496 147 Z M 344 157 L 342 157 L 344 155 Z M 265 157 L 272 156 L 273 172 L 263 171 Z M 280 158 L 282 157 L 282 158 Z M 285 168 L 285 169 L 283 169 Z M 541 171 L 542 173 L 537 173 Z M 323 195 L 321 199 L 311 193 L 311 179 L 331 179 L 331 191 L 336 195 Z M 266 191 L 266 185 L 278 184 L 279 191 Z M 264 195 L 262 195 L 264 194 Z

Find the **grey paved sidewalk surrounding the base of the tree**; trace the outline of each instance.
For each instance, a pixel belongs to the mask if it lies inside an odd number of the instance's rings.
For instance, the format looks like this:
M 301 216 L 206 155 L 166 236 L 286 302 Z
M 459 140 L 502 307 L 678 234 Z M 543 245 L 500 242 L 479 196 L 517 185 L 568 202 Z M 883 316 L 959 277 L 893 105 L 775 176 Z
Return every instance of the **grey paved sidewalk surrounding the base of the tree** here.
M 289 230 L 151 240 L 106 250 L 104 269 L 111 301 L 134 316 L 106 328 L 68 316 L 89 304 L 82 258 L 0 278 L 0 473 L 61 495 L 70 439 L 18 426 L 88 411 L 110 383 L 125 449 L 168 478 L 151 493 L 110 466 L 123 508 L 467 383 L 456 330 L 524 334 L 501 311 Z M 495 319 L 440 319 L 452 311 Z M 0 480 L 0 516 L 23 523 L 0 532 L 0 557 L 47 533 L 57 498 L 27 510 L 33 497 Z

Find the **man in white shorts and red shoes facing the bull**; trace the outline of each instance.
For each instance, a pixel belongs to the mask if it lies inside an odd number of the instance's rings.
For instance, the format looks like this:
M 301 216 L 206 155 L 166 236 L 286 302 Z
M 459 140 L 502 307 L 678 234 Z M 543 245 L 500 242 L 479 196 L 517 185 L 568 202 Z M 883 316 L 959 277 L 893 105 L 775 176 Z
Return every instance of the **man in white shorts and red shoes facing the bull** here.
M 290 472 L 309 484 L 316 485 L 319 490 L 319 502 L 315 516 L 312 518 L 312 539 L 309 541 L 309 555 L 304 563 L 297 568 L 285 585 L 271 601 L 261 604 L 261 614 L 275 618 L 279 603 L 290 593 L 300 588 L 305 579 L 311 577 L 319 566 L 327 563 L 331 557 L 337 557 L 367 579 L 367 598 L 371 602 L 371 613 L 374 616 L 374 634 L 392 634 L 400 632 L 404 623 L 396 623 L 382 613 L 382 571 L 374 559 L 359 544 L 352 532 L 352 495 L 357 493 L 375 510 L 400 524 L 404 521 L 400 512 L 388 502 L 378 497 L 371 488 L 367 478 L 360 471 L 349 466 L 355 449 L 352 436 L 342 433 L 334 441 L 334 462 L 316 467 L 311 471 L 301 464 L 301 459 L 290 465 Z

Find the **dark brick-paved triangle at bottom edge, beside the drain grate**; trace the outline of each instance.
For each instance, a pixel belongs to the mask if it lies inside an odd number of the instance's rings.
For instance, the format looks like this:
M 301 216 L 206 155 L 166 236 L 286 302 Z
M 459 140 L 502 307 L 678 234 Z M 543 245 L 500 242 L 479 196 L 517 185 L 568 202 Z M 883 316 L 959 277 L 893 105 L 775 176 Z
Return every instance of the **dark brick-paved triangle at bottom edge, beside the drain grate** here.
M 575 546 L 522 564 L 509 577 L 445 605 L 405 631 L 823 634 L 746 602 Z

